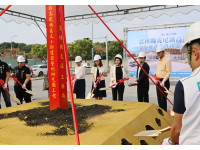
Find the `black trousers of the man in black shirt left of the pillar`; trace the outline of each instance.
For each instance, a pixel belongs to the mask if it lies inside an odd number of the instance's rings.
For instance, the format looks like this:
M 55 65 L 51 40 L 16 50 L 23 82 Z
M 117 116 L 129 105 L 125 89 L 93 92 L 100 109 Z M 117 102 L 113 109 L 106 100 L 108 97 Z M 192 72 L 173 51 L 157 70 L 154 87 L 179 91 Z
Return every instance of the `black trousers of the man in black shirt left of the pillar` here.
M 28 90 L 31 90 L 31 85 L 26 87 Z M 21 104 L 23 104 L 23 100 L 26 103 L 31 102 L 31 94 L 28 94 L 25 92 L 24 89 L 22 89 L 21 86 L 14 86 L 14 91 L 15 91 L 15 95 L 16 97 L 20 100 Z

